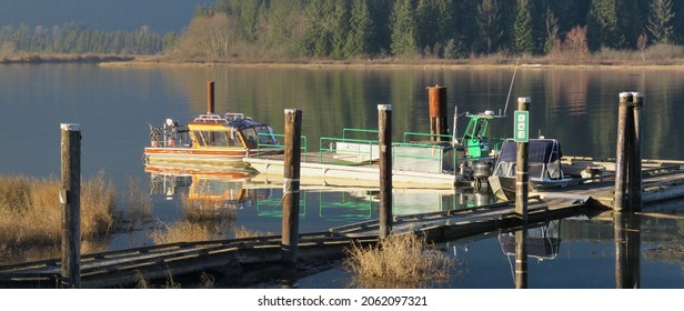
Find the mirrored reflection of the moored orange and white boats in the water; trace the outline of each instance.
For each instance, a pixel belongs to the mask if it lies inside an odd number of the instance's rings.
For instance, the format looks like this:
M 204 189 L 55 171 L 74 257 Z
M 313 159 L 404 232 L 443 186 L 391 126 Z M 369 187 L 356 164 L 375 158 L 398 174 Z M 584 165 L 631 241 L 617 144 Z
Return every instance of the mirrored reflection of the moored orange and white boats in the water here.
M 150 172 L 150 171 L 148 171 Z M 215 208 L 241 210 L 241 224 L 279 230 L 282 217 L 282 184 L 265 182 L 249 171 L 200 173 L 189 171 L 150 172 L 151 192 L 171 201 L 212 200 Z M 341 224 L 376 219 L 380 191 L 374 188 L 302 187 L 300 219 L 305 231 L 326 231 Z M 185 198 L 183 198 L 185 199 Z M 395 215 L 465 209 L 493 203 L 496 198 L 487 191 L 472 189 L 426 190 L 394 189 L 392 210 Z M 258 219 L 262 219 L 259 221 Z M 272 221 L 264 222 L 264 218 Z M 252 223 L 259 222 L 259 223 Z M 276 223 L 278 222 L 278 223 Z

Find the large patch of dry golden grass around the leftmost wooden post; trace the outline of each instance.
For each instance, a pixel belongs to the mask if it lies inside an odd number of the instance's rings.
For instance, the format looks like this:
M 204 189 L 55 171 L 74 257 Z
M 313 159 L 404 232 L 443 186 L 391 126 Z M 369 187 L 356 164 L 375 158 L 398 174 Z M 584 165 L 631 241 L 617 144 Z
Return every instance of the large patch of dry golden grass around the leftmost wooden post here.
M 61 240 L 62 210 L 56 178 L 0 178 L 0 244 L 3 248 L 56 245 Z M 81 235 L 107 233 L 113 223 L 115 191 L 100 172 L 81 184 Z

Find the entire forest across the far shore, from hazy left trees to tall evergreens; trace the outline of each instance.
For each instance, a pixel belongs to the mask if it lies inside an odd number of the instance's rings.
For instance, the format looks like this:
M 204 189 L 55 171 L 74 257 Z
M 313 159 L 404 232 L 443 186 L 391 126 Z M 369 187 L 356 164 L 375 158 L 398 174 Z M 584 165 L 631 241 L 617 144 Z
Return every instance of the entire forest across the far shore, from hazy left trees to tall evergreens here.
M 0 29 L 0 54 L 164 54 L 181 60 L 586 58 L 658 47 L 682 57 L 684 1 L 218 0 L 180 34 L 76 23 Z M 663 48 L 665 47 L 665 48 Z

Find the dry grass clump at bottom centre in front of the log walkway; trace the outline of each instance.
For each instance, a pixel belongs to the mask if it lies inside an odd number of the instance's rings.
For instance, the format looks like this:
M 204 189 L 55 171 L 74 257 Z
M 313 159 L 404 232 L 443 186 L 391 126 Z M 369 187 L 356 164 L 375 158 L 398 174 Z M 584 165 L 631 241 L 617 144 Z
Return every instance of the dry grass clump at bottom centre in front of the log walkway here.
M 390 235 L 376 247 L 354 247 L 345 260 L 359 288 L 423 288 L 450 280 L 454 261 L 415 234 Z

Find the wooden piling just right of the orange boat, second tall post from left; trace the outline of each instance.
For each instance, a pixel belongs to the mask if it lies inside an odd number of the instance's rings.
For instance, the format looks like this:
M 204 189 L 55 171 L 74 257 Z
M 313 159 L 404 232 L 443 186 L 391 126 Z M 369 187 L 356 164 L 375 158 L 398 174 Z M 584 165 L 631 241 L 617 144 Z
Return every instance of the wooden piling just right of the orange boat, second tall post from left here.
M 283 168 L 282 263 L 296 263 L 302 111 L 285 109 L 285 159 Z

